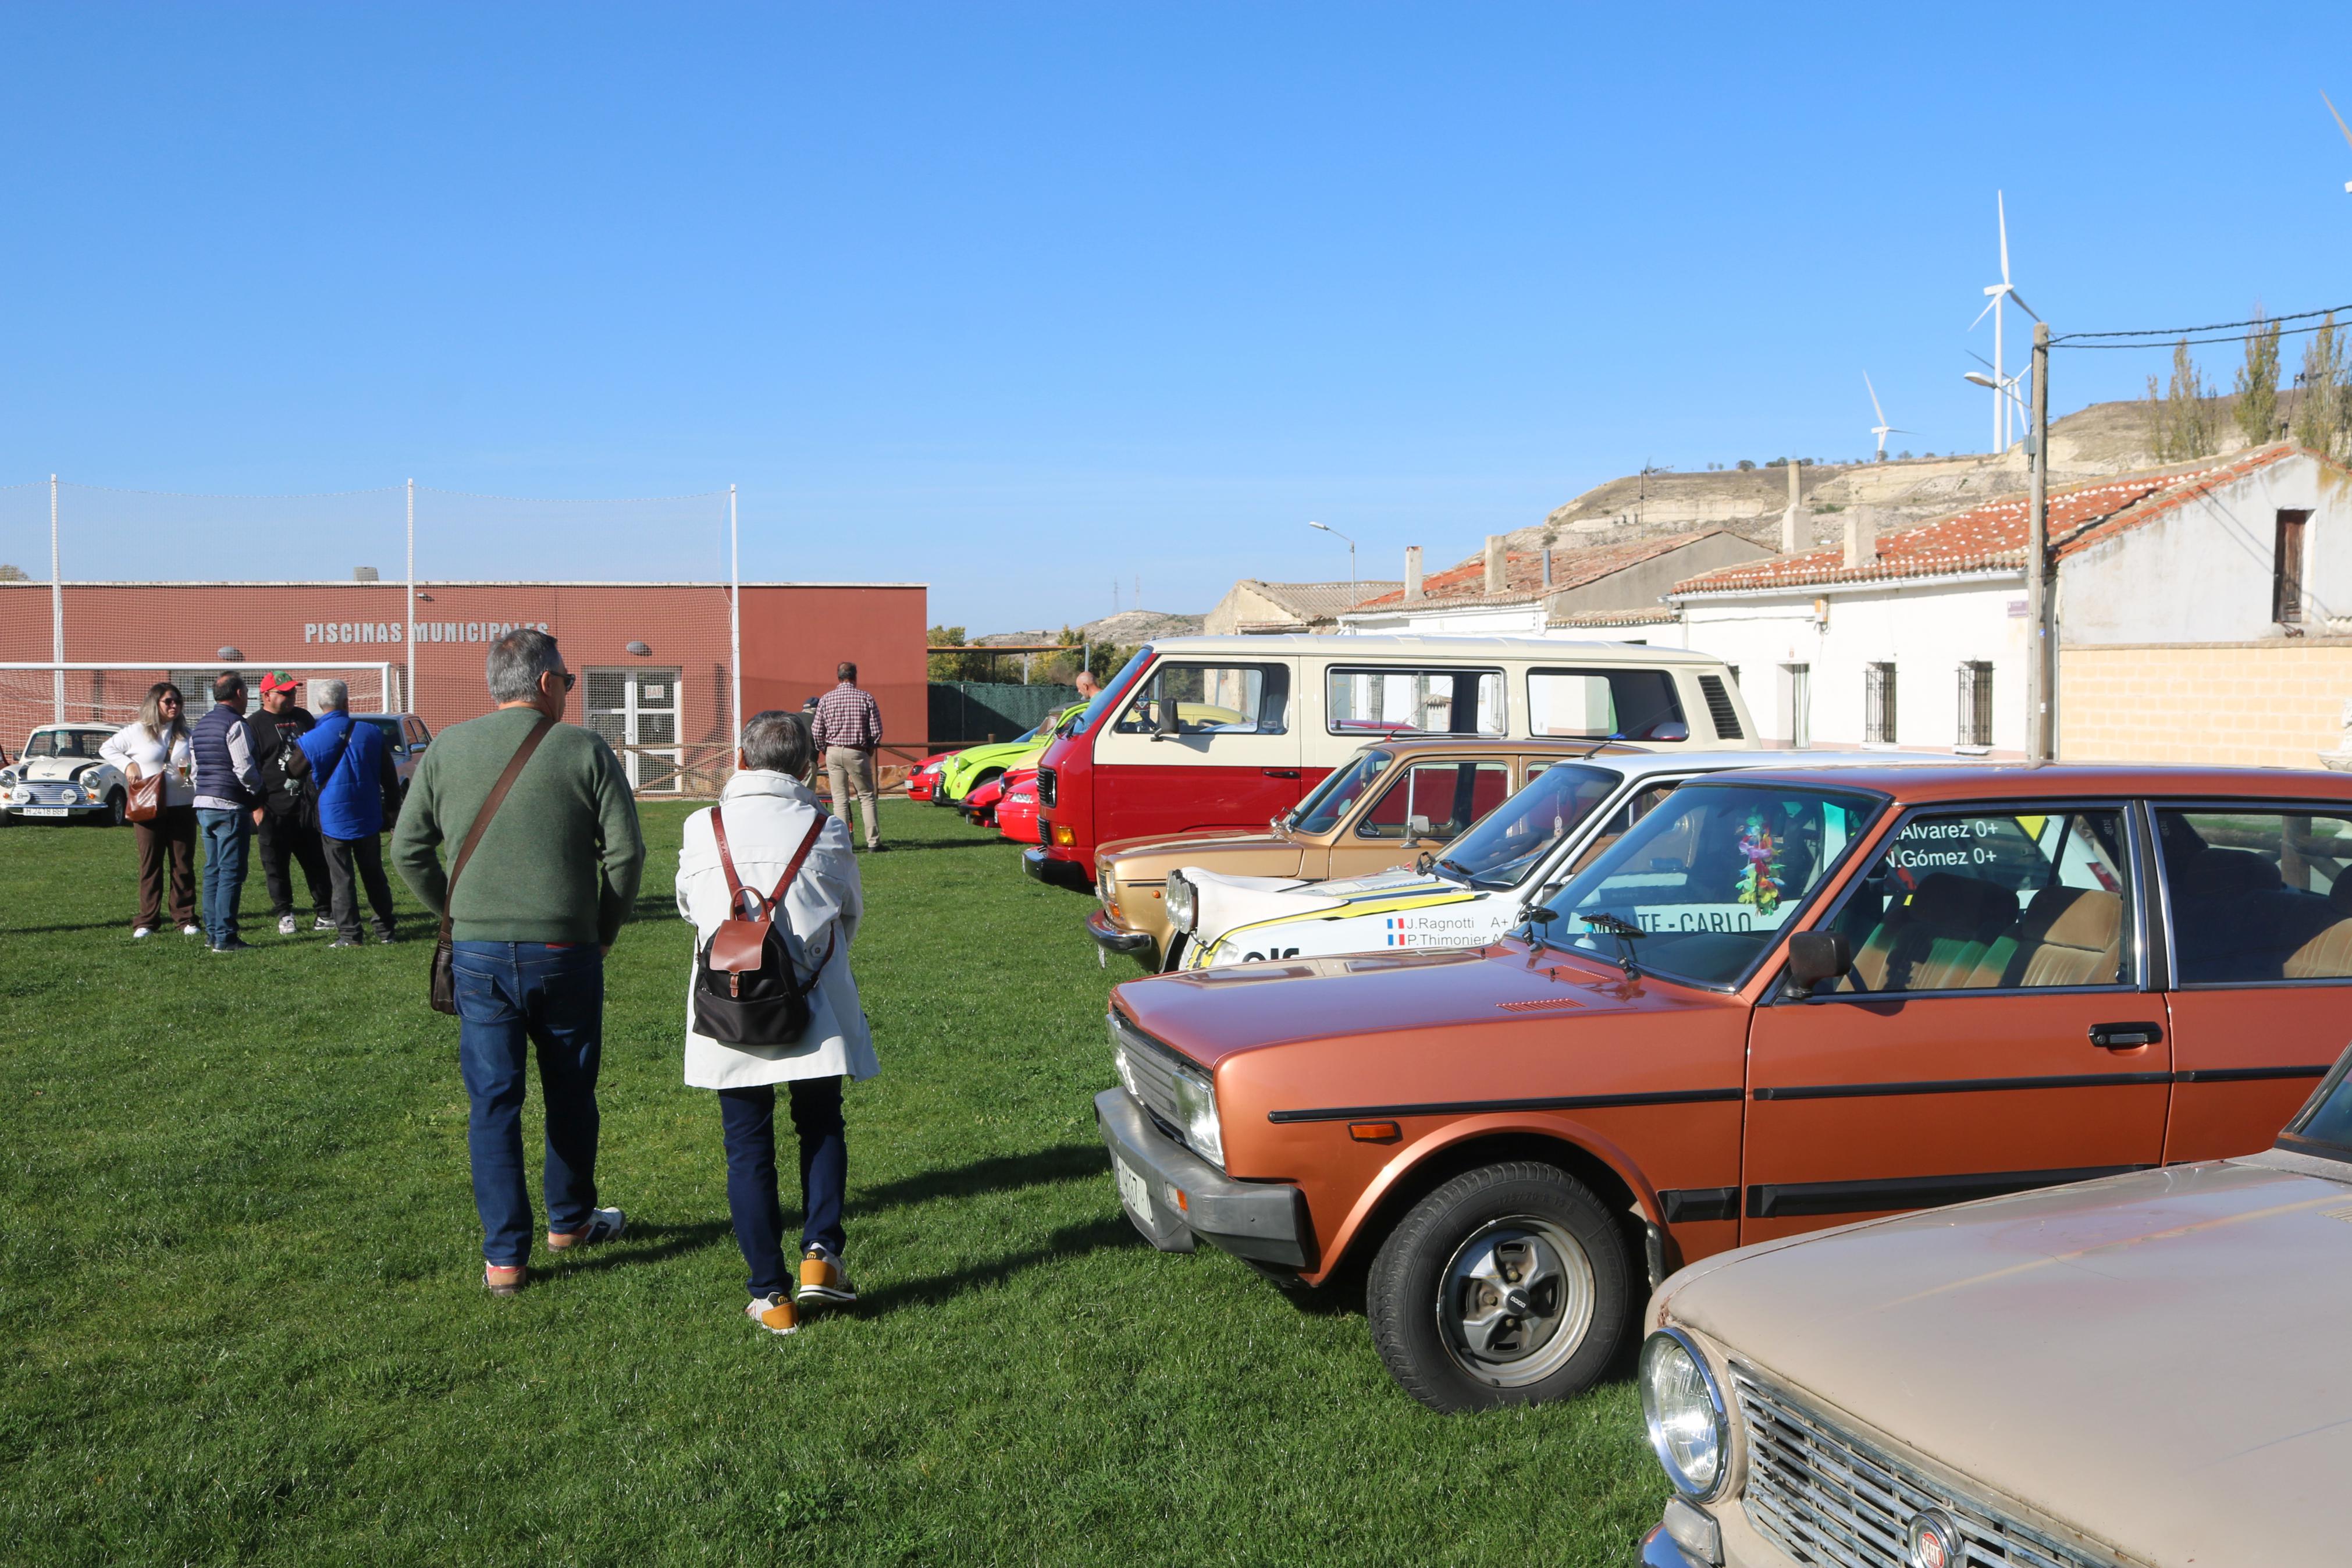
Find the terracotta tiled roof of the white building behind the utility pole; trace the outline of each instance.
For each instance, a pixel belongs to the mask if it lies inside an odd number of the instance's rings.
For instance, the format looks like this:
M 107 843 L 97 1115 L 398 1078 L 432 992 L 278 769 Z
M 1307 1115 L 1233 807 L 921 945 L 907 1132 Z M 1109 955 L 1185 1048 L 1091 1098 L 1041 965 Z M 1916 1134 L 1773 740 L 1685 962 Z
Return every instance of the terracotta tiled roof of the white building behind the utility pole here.
M 2053 555 L 2072 555 L 2100 538 L 2136 529 L 2164 512 L 2206 496 L 2223 484 L 2270 468 L 2303 451 L 2291 442 L 2256 447 L 2227 461 L 2117 475 L 2051 491 Z M 1719 567 L 1675 583 L 1675 595 L 1738 592 L 1752 588 L 1806 588 L 1816 583 L 1875 583 L 1886 578 L 1952 576 L 2025 567 L 2027 498 L 2006 496 L 1952 512 L 1917 529 L 1879 536 L 1879 557 L 1849 567 L 1842 548 L 1773 555 L 1738 567 Z

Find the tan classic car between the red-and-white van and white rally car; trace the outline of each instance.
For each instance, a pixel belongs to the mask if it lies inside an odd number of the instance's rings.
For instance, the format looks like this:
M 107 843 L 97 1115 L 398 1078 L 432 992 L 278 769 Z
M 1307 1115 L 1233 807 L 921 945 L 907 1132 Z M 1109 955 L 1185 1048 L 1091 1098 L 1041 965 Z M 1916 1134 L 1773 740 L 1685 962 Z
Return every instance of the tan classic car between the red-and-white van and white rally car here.
M 1183 943 L 1169 940 L 1167 879 L 1178 865 L 1279 877 L 1282 886 L 1359 877 L 1444 849 L 1555 762 L 1623 750 L 1592 741 L 1458 736 L 1367 745 L 1265 827 L 1202 827 L 1103 844 L 1094 853 L 1101 907 L 1087 917 L 1087 933 L 1103 952 L 1124 952 L 1145 969 L 1174 969 Z

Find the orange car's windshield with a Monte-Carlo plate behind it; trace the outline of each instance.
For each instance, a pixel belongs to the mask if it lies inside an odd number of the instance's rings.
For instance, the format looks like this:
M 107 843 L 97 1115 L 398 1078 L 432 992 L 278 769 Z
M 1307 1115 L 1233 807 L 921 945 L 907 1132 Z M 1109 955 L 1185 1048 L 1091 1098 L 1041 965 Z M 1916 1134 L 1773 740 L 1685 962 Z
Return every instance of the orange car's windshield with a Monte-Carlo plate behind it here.
M 1884 802 L 1806 785 L 1684 785 L 1550 898 L 1552 947 L 1738 985 Z M 1635 936 L 1609 926 L 1623 922 Z

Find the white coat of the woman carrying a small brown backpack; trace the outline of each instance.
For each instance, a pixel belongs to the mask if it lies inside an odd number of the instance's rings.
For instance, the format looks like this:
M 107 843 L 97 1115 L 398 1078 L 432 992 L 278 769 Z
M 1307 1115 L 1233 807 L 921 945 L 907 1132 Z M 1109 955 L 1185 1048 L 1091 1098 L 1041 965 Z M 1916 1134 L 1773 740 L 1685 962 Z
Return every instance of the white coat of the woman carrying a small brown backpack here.
M 816 792 L 783 773 L 746 771 L 720 790 L 727 811 L 727 849 L 736 877 L 767 896 L 818 816 Z M 809 849 L 800 877 L 783 896 L 793 919 L 790 950 L 800 971 L 830 950 L 816 990 L 809 992 L 809 1032 L 793 1046 L 727 1046 L 694 1032 L 694 964 L 687 966 L 687 1086 L 748 1088 L 786 1079 L 826 1079 L 849 1074 L 870 1079 L 880 1072 L 866 1009 L 858 1006 L 858 983 L 849 976 L 849 943 L 866 912 L 858 891 L 858 865 L 849 849 L 849 830 L 828 818 Z M 694 922 L 694 952 L 727 919 L 727 872 L 720 867 L 710 813 L 687 818 L 687 837 L 677 849 L 677 912 Z

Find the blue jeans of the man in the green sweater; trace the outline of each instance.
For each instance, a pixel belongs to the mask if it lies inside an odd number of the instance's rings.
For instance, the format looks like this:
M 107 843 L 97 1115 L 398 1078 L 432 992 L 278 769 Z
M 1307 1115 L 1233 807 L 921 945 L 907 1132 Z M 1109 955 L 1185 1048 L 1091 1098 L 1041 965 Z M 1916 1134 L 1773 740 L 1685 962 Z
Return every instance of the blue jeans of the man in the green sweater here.
M 482 1260 L 532 1255 L 532 1190 L 522 1178 L 522 1091 L 539 1048 L 546 1110 L 548 1229 L 574 1232 L 595 1208 L 595 1074 L 604 1058 L 604 954 L 595 943 L 459 943 L 456 1056 L 466 1072 L 466 1147 Z

